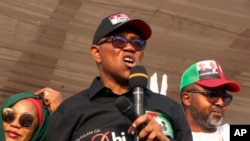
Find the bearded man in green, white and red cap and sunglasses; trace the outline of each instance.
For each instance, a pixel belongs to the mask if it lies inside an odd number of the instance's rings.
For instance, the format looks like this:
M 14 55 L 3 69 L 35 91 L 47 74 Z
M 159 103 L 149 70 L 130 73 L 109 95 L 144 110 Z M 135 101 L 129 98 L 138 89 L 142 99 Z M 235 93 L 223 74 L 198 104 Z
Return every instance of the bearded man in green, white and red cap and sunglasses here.
M 200 64 L 211 71 L 200 71 Z M 212 71 L 210 64 L 215 64 L 217 71 Z M 229 125 L 222 124 L 233 98 L 228 91 L 239 92 L 240 85 L 227 80 L 216 61 L 204 60 L 183 72 L 180 91 L 193 140 L 229 141 Z

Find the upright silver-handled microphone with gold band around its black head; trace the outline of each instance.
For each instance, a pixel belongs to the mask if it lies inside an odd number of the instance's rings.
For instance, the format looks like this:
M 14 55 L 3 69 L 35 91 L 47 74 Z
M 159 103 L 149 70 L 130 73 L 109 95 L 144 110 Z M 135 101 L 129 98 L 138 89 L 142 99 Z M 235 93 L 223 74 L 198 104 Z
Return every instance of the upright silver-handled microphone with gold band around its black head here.
M 144 88 L 148 82 L 148 74 L 143 66 L 135 66 L 131 69 L 129 75 L 129 86 L 134 95 L 134 108 L 138 115 L 144 114 L 143 98 Z

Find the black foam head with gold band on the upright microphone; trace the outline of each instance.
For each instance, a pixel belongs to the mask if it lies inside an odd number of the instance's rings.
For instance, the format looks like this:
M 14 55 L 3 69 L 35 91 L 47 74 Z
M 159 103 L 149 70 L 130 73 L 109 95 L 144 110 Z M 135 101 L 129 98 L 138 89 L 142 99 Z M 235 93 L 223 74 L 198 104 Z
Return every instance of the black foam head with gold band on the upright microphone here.
M 146 88 L 148 83 L 148 73 L 143 66 L 134 66 L 130 70 L 129 86 L 131 88 L 142 87 Z

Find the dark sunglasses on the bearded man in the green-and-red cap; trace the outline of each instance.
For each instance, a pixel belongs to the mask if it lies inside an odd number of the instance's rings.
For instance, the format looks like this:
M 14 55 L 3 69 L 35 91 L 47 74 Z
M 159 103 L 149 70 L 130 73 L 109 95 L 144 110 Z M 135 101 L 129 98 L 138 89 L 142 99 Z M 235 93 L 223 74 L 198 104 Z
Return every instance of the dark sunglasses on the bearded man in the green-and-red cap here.
M 203 94 L 207 97 L 208 102 L 212 104 L 216 103 L 220 97 L 222 98 L 225 106 L 228 106 L 233 100 L 233 96 L 226 92 L 218 92 L 218 91 L 211 91 L 211 90 L 206 90 L 206 91 L 188 90 L 187 92 Z

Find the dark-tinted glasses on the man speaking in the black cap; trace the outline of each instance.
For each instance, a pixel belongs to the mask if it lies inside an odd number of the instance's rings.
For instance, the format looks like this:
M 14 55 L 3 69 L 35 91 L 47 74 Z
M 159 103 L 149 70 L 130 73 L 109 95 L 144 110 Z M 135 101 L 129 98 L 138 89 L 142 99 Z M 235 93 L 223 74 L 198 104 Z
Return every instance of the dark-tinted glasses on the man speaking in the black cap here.
M 144 50 L 146 47 L 146 41 L 143 39 L 126 39 L 122 36 L 110 36 L 107 37 L 105 40 L 99 42 L 97 45 L 101 45 L 103 43 L 108 42 L 111 40 L 112 45 L 116 48 L 124 48 L 128 43 L 130 43 L 136 50 Z

